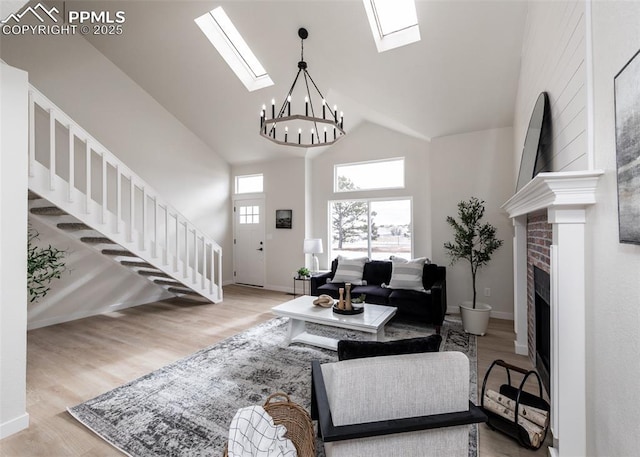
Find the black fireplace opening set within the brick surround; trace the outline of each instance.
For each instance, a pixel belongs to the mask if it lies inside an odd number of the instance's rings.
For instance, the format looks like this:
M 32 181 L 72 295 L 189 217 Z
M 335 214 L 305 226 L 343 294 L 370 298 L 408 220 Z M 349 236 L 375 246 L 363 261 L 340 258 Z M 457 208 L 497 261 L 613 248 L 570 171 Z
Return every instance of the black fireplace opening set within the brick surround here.
M 549 273 L 533 267 L 535 292 L 536 370 L 547 392 L 551 372 L 551 280 Z

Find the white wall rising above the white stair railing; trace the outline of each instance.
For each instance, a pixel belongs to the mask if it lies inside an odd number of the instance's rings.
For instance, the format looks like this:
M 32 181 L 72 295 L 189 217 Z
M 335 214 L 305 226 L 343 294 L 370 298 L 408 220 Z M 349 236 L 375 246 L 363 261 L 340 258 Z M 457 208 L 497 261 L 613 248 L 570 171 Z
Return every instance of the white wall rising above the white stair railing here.
M 0 56 L 28 71 L 35 87 L 216 240 L 223 279 L 231 278 L 226 161 L 81 36 L 3 36 Z M 121 300 L 103 298 L 97 308 Z M 138 298 L 140 304 L 156 295 Z

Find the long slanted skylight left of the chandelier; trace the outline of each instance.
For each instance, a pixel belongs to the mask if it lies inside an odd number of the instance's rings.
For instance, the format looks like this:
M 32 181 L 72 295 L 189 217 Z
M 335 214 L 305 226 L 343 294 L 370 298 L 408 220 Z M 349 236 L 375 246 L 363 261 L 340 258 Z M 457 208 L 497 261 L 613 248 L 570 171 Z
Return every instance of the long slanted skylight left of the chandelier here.
M 249 92 L 273 86 L 267 71 L 221 6 L 196 18 L 195 23 Z

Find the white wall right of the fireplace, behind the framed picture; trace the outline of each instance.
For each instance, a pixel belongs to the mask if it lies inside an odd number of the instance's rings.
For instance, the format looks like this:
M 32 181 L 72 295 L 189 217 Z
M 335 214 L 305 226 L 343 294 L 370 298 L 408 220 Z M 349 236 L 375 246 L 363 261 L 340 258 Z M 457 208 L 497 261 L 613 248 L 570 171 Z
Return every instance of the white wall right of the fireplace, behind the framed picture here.
M 630 457 L 640 449 L 640 246 L 618 242 L 613 82 L 640 49 L 640 3 L 592 8 L 595 167 L 605 175 L 587 220 L 587 449 Z

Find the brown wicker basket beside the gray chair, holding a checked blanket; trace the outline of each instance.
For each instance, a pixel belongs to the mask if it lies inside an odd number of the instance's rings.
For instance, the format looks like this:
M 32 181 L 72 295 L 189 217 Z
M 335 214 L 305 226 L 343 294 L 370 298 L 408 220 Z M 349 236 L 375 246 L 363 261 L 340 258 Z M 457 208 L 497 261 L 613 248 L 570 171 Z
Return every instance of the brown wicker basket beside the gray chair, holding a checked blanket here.
M 280 398 L 280 400 L 276 400 Z M 315 457 L 316 439 L 313 422 L 307 410 L 291 401 L 283 392 L 269 395 L 263 405 L 264 410 L 273 418 L 276 425 L 284 425 L 285 436 L 291 440 L 298 451 L 298 457 Z M 224 457 L 228 457 L 227 448 Z

